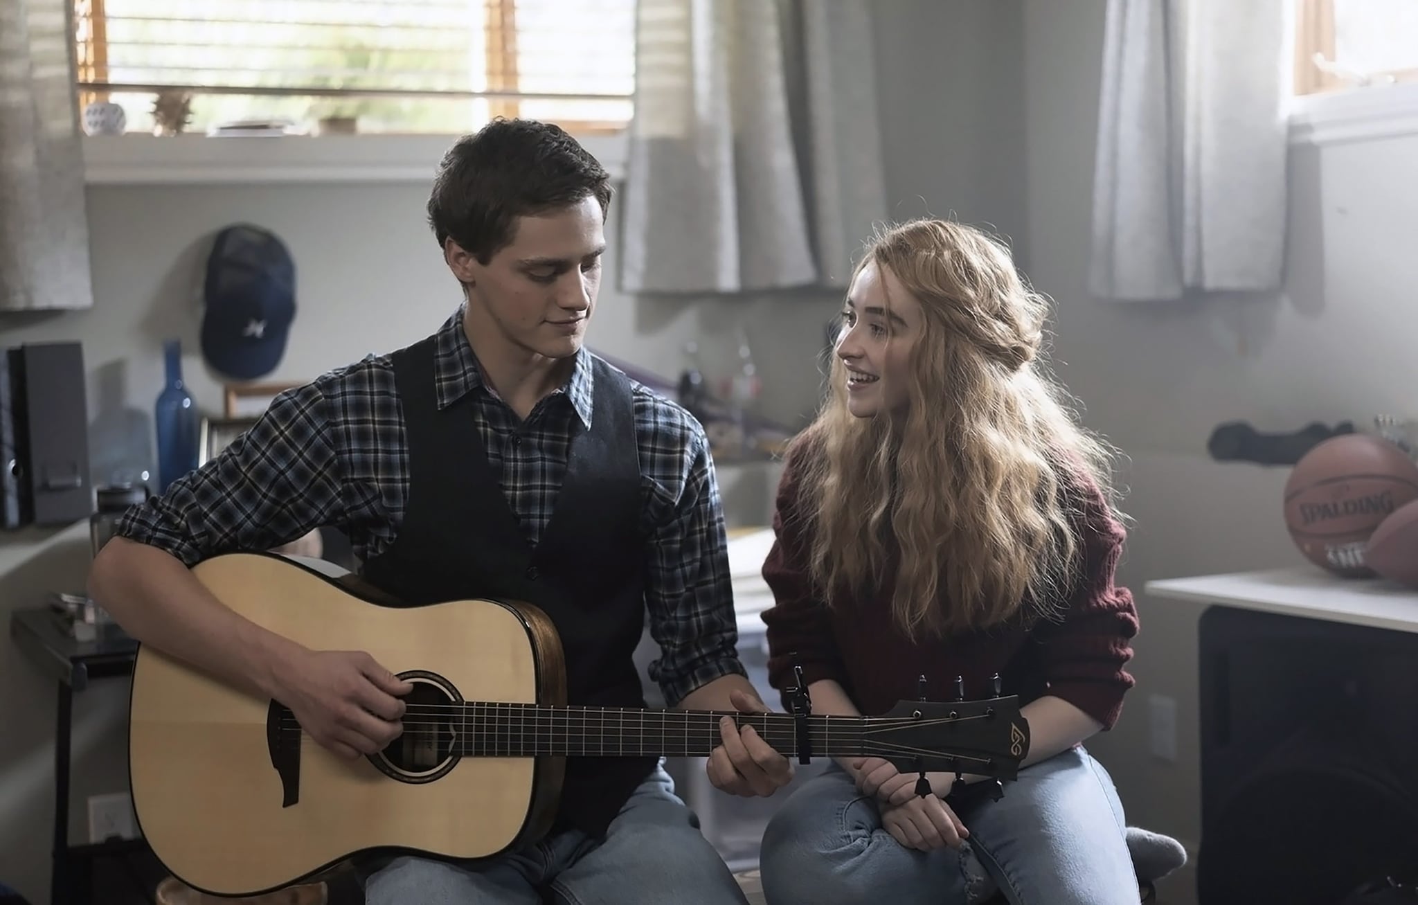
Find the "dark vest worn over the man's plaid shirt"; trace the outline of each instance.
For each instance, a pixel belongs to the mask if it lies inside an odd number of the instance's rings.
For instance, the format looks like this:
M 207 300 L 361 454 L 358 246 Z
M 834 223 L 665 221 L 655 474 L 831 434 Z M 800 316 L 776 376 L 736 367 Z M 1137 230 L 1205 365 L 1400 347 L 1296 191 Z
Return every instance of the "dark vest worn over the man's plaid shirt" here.
M 647 543 L 634 400 L 623 373 L 591 360 L 591 427 L 571 418 L 566 477 L 533 546 L 488 462 L 472 394 L 438 409 L 432 338 L 396 352 L 408 502 L 394 543 L 364 563 L 363 576 L 406 606 L 468 597 L 532 603 L 560 635 L 567 704 L 644 708 L 632 660 L 645 618 Z M 600 835 L 655 765 L 567 757 L 556 828 Z

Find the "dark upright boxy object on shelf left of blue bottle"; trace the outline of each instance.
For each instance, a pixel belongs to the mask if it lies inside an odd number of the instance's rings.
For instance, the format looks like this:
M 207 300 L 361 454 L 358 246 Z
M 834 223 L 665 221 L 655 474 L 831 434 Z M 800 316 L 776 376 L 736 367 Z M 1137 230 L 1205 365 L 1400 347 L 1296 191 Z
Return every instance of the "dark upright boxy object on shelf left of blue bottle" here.
M 84 348 L 24 343 L 0 379 L 0 525 L 62 525 L 94 511 Z

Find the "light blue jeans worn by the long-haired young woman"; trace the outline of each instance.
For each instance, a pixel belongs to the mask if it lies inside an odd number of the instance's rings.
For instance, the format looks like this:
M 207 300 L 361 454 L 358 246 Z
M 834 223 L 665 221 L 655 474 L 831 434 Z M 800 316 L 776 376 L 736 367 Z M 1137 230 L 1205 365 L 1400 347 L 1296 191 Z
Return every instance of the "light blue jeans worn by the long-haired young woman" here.
M 970 838 L 922 853 L 882 828 L 835 763 L 783 804 L 763 837 L 769 905 L 1139 905 L 1123 807 L 1082 748 L 1020 770 L 1004 797 L 959 814 Z

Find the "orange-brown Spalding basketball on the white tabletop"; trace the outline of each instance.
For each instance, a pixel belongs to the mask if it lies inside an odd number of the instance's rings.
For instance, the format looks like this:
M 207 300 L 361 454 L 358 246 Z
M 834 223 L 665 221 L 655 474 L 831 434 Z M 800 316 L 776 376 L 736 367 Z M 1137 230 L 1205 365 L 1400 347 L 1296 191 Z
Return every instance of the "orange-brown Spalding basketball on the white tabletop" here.
M 1418 464 L 1381 437 L 1340 434 L 1295 464 L 1285 482 L 1285 526 L 1316 566 L 1373 577 L 1368 538 L 1411 499 L 1418 499 Z

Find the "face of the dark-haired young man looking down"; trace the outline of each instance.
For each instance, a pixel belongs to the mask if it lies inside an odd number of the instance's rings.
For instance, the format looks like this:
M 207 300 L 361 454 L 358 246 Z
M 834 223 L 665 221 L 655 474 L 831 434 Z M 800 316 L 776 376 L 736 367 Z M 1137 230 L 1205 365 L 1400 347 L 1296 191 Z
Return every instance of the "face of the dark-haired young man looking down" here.
M 468 287 L 469 315 L 485 313 L 526 352 L 550 359 L 576 355 L 601 284 L 603 221 L 600 203 L 586 197 L 557 211 L 519 217 L 512 243 L 486 264 L 455 248 L 448 262 Z

